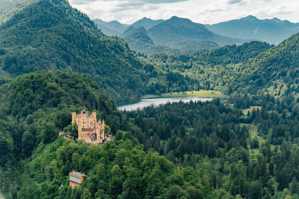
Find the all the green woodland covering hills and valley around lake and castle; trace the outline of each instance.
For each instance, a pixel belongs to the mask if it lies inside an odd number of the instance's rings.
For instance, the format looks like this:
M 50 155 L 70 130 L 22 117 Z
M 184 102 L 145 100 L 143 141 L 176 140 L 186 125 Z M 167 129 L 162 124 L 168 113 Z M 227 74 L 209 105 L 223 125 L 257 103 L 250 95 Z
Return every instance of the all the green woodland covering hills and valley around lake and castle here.
M 145 55 L 101 33 L 67 1 L 19 0 L 15 9 L 5 2 L 5 198 L 299 198 L 299 34 L 277 46 Z M 115 104 L 202 89 L 227 97 L 123 111 Z M 74 134 L 71 112 L 83 109 L 96 111 L 115 140 L 88 146 L 58 137 Z M 68 186 L 72 169 L 88 176 L 79 188 Z

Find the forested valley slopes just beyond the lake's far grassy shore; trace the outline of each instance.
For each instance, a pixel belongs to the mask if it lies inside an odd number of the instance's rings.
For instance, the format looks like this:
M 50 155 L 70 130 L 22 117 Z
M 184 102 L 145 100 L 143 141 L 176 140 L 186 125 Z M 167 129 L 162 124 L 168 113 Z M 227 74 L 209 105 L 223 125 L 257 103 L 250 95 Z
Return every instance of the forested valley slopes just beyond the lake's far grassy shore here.
M 152 84 L 157 83 L 159 87 L 156 88 L 160 88 L 161 93 L 165 92 L 165 87 L 167 87 L 171 92 L 203 89 L 218 90 L 228 95 L 234 91 L 238 91 L 239 94 L 256 95 L 259 90 L 263 90 L 263 87 L 258 87 L 256 82 L 251 82 L 256 90 L 246 88 L 250 81 L 248 78 L 254 74 L 251 70 L 244 69 L 251 67 L 250 63 L 257 55 L 273 47 L 267 43 L 252 41 L 193 55 L 175 57 L 164 53 L 154 53 L 146 58 L 140 57 L 140 59 L 145 64 L 154 63 L 156 71 L 165 71 L 164 78 L 149 79 L 148 89 Z M 241 77 L 247 79 L 243 81 Z M 238 87 L 237 85 L 241 83 L 243 85 Z

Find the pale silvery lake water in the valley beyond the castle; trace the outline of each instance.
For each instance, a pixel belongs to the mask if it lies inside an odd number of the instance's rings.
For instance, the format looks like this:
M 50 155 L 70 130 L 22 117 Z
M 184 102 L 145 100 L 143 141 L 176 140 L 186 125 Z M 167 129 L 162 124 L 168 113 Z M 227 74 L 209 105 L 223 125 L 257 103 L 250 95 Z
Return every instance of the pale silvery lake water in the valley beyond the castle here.
M 159 105 L 159 104 L 165 104 L 168 101 L 169 102 L 178 102 L 178 101 L 183 101 L 183 102 L 189 102 L 190 100 L 192 101 L 210 101 L 213 98 L 211 97 L 166 97 L 166 98 L 141 98 L 141 99 L 133 99 L 129 100 L 126 102 L 121 102 L 118 103 L 118 109 L 123 110 L 126 109 L 127 111 L 130 110 L 135 110 L 137 108 L 143 108 L 147 107 L 151 104 Z

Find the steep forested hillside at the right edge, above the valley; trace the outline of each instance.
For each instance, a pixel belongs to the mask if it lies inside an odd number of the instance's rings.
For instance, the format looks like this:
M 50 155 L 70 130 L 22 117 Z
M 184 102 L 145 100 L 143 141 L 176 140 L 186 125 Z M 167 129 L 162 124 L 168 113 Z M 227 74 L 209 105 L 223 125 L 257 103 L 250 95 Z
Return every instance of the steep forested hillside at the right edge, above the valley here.
M 298 94 L 299 33 L 257 56 L 250 64 L 257 88 L 269 88 L 276 95 Z

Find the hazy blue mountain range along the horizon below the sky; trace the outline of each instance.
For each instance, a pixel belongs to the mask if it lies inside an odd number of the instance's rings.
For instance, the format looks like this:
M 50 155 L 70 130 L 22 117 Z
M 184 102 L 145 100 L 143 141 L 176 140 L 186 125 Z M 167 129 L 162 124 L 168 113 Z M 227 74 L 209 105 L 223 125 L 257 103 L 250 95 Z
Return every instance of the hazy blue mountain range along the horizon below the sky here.
M 100 19 L 93 21 L 103 33 L 121 36 L 132 50 L 145 54 L 164 52 L 176 55 L 186 50 L 211 50 L 253 40 L 278 44 L 299 31 L 299 23 L 277 18 L 260 20 L 254 16 L 213 25 L 176 16 L 166 21 L 144 17 L 131 25 Z

